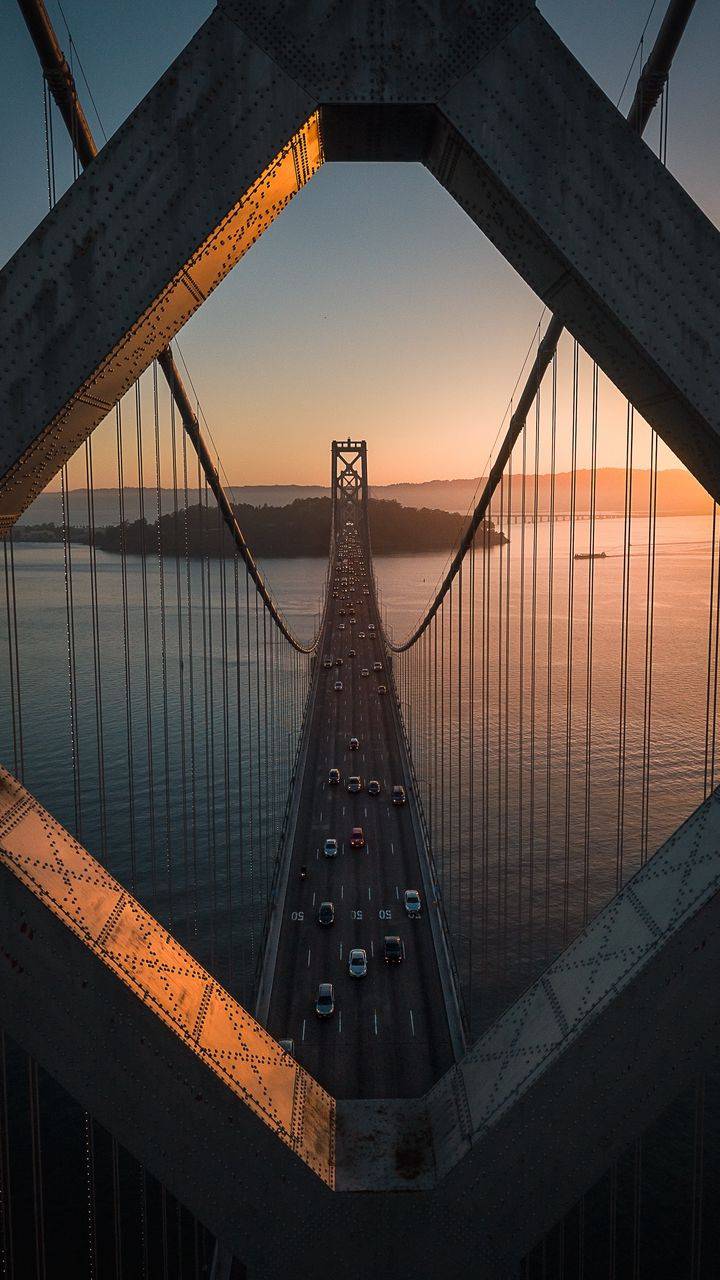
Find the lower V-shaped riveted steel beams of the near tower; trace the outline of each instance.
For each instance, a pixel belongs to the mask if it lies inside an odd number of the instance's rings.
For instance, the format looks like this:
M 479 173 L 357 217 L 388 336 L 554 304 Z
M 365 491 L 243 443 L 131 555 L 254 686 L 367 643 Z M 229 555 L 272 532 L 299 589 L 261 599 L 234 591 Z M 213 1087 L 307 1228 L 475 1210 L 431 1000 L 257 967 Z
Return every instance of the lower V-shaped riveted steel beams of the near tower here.
M 0 1019 L 250 1276 L 507 1276 L 717 1055 L 719 847 L 720 791 L 424 1098 L 334 1102 L 3 772 Z

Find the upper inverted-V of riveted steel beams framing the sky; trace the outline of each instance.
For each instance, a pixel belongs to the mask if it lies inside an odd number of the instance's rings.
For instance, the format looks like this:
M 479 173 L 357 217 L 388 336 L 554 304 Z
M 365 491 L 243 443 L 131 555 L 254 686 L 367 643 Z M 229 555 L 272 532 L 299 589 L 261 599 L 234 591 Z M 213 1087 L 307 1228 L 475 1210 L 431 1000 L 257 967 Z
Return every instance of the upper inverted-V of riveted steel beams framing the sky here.
M 0 274 L 0 531 L 311 177 L 325 114 L 332 155 L 424 159 L 720 497 L 720 236 L 530 0 L 222 0 Z

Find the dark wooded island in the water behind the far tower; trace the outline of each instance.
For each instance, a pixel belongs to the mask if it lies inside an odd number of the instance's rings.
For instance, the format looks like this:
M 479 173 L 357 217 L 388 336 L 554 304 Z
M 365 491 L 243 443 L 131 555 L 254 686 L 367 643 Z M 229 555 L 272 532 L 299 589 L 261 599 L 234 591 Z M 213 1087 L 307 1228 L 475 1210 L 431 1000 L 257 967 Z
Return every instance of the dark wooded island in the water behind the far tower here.
M 259 557 L 322 556 L 328 554 L 331 538 L 331 499 L 296 498 L 286 507 L 236 506 L 240 526 L 247 538 L 252 552 Z M 398 502 L 369 503 L 370 538 L 373 550 L 378 556 L 447 550 L 454 547 L 464 526 L 462 516 L 448 511 L 428 511 L 416 507 L 401 507 Z M 187 512 L 174 511 L 160 521 L 163 549 L 172 556 L 184 554 L 186 545 L 191 556 L 232 556 L 234 544 L 224 525 L 218 522 L 215 506 L 196 504 Z M 61 527 L 45 524 L 37 527 L 24 526 L 18 530 L 20 540 L 59 541 Z M 488 526 L 491 543 L 506 541 L 502 534 Z M 73 541 L 86 543 L 87 530 L 76 527 L 70 531 Z M 124 525 L 108 525 L 96 530 L 96 545 L 101 550 L 119 552 L 124 548 L 131 554 L 142 549 L 150 552 L 158 545 L 158 522 L 147 520 L 126 521 Z

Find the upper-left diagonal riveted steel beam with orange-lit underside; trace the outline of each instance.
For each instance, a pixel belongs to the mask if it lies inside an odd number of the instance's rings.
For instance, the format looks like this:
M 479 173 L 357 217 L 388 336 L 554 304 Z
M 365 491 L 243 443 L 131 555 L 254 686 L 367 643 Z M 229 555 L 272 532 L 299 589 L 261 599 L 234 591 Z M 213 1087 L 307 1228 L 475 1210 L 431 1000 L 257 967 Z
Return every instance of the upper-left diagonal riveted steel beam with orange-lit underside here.
M 322 163 L 218 10 L 0 273 L 0 532 Z

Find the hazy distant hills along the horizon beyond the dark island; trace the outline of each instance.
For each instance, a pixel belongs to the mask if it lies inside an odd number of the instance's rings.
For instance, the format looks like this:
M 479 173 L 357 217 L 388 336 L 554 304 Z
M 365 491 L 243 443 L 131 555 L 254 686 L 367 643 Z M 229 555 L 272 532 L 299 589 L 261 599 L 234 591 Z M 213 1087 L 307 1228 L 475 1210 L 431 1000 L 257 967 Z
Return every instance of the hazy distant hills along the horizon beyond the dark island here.
M 555 477 L 555 509 L 566 512 L 570 509 L 570 483 L 569 471 L 561 471 Z M 400 502 L 404 507 L 424 507 L 434 511 L 455 511 L 462 515 L 475 502 L 475 497 L 483 484 L 482 479 L 468 480 L 427 480 L 421 484 L 391 484 L 372 485 L 370 494 L 380 500 Z M 589 508 L 591 472 L 577 472 L 577 507 L 578 511 Z M 512 477 L 512 509 L 520 509 L 523 477 Z M 534 490 L 534 477 L 525 480 L 527 502 L 532 502 Z M 538 476 L 538 504 L 544 515 L 550 511 L 551 477 Z M 650 471 L 633 471 L 633 512 L 641 515 L 647 511 L 650 490 Z M 296 499 L 320 498 L 328 493 L 322 485 L 238 485 L 231 490 L 234 502 L 246 507 L 287 507 Z M 137 520 L 140 517 L 140 490 L 126 489 L 126 518 Z M 188 493 L 188 502 L 195 506 L 199 500 L 197 489 Z M 182 495 L 181 495 L 182 502 Z M 625 472 L 623 467 L 602 467 L 597 472 L 597 509 L 602 513 L 616 512 L 621 515 L 625 502 Z M 161 490 L 163 511 L 173 507 L 173 493 L 170 489 Z M 70 490 L 69 497 L 70 524 L 87 525 L 87 495 L 85 489 Z M 697 516 L 712 509 L 712 502 L 702 485 L 680 467 L 660 471 L 657 475 L 657 509 L 661 516 Z M 155 489 L 145 490 L 145 516 L 155 520 L 158 515 L 158 497 Z M 61 508 L 59 493 L 44 493 L 20 516 L 22 525 L 61 524 Z M 118 507 L 118 494 L 114 489 L 95 490 L 95 524 L 102 529 L 106 525 L 119 524 L 120 513 Z

